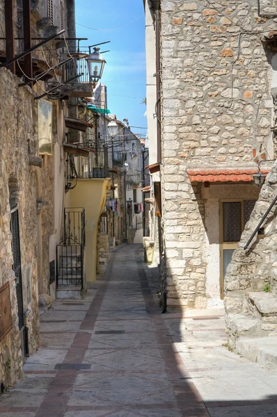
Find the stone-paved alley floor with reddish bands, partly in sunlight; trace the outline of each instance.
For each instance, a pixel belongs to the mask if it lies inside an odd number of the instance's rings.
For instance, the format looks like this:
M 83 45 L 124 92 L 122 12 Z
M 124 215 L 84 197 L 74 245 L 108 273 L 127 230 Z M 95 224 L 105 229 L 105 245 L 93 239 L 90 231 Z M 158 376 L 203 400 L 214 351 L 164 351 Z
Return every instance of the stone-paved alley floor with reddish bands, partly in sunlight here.
M 277 416 L 276 374 L 228 352 L 223 312 L 161 315 L 157 281 L 126 245 L 85 300 L 56 301 L 0 416 Z

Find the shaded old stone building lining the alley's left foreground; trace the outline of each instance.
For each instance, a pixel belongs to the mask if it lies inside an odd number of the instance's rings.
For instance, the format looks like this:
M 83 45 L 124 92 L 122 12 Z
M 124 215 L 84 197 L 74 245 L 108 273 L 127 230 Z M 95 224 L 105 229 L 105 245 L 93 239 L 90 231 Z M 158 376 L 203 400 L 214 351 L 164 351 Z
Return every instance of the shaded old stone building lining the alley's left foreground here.
M 36 0 L 24 2 L 23 8 L 21 1 L 2 0 L 0 22 L 3 390 L 21 376 L 24 359 L 38 349 L 38 305 L 48 306 L 56 297 L 68 113 L 60 65 L 67 42 L 56 34 L 65 30 L 74 38 L 74 0 Z M 67 97 L 72 89 L 68 85 Z

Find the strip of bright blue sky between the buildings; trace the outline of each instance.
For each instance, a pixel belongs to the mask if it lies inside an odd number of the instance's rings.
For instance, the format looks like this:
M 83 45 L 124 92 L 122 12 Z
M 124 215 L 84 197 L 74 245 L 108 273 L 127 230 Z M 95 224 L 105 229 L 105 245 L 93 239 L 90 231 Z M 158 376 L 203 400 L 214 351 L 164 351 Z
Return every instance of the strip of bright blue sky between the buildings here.
M 108 90 L 109 110 L 119 120 L 127 118 L 131 126 L 146 126 L 145 105 L 141 104 L 145 97 L 143 0 L 75 0 L 75 4 L 77 37 L 88 38 L 82 44 L 111 40 L 101 47 L 102 51 L 110 50 L 104 54 L 106 66 L 102 76 Z M 145 133 L 142 129 L 132 131 Z

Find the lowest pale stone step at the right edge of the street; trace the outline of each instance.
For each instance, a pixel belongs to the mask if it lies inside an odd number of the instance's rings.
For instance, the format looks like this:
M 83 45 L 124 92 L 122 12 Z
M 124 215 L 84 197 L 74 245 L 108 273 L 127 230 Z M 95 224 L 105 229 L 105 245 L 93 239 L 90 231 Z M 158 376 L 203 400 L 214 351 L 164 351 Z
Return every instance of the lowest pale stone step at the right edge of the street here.
M 277 371 L 277 335 L 261 338 L 242 338 L 237 341 L 237 352 L 246 359 Z

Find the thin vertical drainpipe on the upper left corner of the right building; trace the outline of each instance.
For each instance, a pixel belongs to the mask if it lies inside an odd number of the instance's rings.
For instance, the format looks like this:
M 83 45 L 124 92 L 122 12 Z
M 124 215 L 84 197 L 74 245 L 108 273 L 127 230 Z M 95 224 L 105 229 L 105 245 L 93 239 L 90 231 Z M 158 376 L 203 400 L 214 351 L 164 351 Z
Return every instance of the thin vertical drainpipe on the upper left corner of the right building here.
M 155 32 L 156 32 L 156 85 L 157 85 L 157 101 L 155 113 L 157 116 L 157 163 L 161 163 L 161 51 L 160 51 L 160 36 L 161 36 L 161 17 L 160 0 L 150 0 L 155 16 Z

